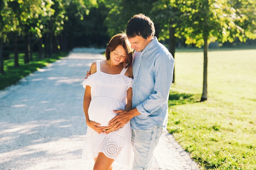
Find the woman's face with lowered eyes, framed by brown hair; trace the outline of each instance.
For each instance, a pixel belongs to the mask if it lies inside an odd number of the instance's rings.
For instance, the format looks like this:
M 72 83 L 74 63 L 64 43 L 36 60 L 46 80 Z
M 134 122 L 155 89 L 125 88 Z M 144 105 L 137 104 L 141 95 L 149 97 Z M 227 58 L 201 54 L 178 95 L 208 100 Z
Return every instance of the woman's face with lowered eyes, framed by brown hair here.
M 126 51 L 123 46 L 118 45 L 114 51 L 110 51 L 110 61 L 118 65 L 126 60 Z

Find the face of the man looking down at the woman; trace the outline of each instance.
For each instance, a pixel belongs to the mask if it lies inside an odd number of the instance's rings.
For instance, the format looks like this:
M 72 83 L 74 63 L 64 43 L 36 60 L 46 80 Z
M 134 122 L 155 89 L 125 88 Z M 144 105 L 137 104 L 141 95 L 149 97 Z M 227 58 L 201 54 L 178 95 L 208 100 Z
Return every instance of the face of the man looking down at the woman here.
M 148 43 L 151 41 L 152 36 L 149 36 L 147 39 L 136 35 L 136 37 L 128 38 L 131 43 L 132 49 L 137 52 L 143 51 Z

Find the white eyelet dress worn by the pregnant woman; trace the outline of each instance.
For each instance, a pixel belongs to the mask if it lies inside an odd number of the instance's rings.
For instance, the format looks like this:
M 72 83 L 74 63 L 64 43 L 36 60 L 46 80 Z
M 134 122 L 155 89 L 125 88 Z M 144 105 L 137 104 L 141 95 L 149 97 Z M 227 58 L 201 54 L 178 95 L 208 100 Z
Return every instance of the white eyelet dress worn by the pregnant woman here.
M 83 87 L 91 87 L 91 102 L 88 109 L 89 119 L 101 126 L 108 126 L 117 114 L 113 110 L 120 110 L 126 106 L 128 88 L 132 87 L 132 78 L 124 75 L 127 68 L 120 74 L 108 74 L 100 71 L 100 61 L 97 60 L 97 72 L 83 81 Z M 92 128 L 87 128 L 82 159 L 94 159 L 99 152 L 116 162 L 130 166 L 133 161 L 131 148 L 130 121 L 123 127 L 109 134 L 98 134 Z

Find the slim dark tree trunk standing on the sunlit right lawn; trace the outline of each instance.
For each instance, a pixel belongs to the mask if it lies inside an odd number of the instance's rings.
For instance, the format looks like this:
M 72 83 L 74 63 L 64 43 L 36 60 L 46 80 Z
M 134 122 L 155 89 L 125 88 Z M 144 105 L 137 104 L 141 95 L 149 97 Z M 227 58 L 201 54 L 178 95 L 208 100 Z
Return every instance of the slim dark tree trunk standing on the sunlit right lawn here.
M 200 102 L 207 100 L 207 63 L 208 63 L 208 34 L 204 34 L 204 78 L 203 78 L 203 93 Z

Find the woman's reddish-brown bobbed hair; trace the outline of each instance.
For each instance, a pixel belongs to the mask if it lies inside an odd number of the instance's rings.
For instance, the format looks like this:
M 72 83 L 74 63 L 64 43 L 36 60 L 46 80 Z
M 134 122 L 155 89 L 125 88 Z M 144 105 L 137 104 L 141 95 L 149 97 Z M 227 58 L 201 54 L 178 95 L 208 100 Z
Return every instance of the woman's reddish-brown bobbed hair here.
M 123 46 L 124 50 L 126 51 L 124 67 L 127 68 L 132 65 L 132 49 L 125 33 L 116 34 L 110 39 L 105 51 L 106 59 L 110 60 L 110 51 L 114 51 L 118 45 Z

